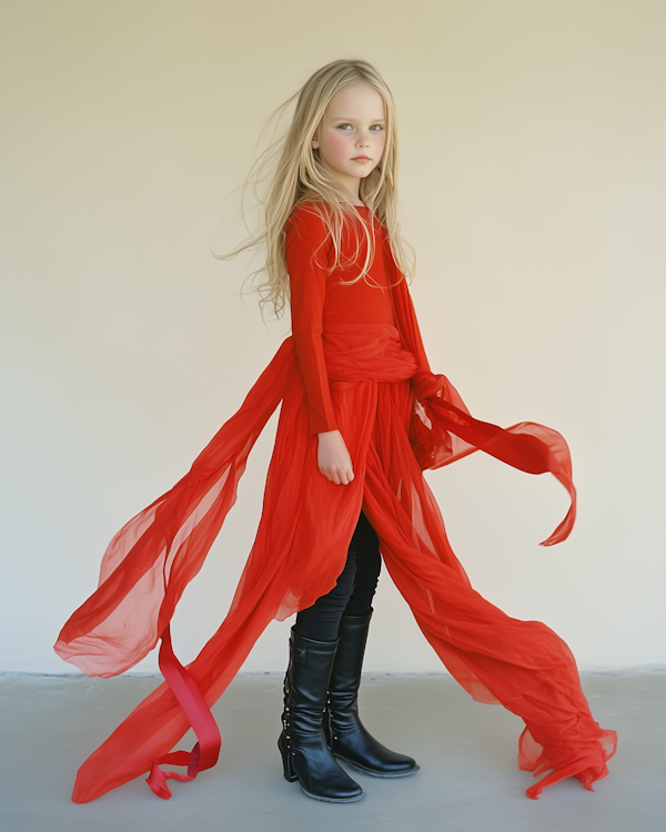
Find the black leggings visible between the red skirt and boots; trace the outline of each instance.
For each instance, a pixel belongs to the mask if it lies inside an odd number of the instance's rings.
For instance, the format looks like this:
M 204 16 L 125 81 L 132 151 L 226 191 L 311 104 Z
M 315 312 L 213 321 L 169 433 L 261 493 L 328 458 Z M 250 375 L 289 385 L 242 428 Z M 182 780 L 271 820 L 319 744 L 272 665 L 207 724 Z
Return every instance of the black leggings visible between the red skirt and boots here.
M 335 641 L 342 616 L 366 616 L 377 588 L 382 556 L 380 541 L 361 511 L 347 559 L 337 584 L 296 616 L 296 631 L 314 641 Z

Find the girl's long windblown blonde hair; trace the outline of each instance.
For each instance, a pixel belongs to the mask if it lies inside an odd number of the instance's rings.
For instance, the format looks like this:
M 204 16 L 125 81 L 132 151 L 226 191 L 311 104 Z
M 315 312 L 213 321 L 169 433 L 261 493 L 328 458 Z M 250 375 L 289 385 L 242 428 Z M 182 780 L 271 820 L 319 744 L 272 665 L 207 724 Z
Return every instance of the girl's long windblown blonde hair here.
M 256 202 L 262 209 L 260 231 L 251 235 L 249 242 L 238 246 L 228 254 L 214 254 L 219 260 L 230 260 L 248 248 L 265 246 L 265 263 L 252 272 L 245 282 L 251 281 L 252 290 L 260 295 L 260 307 L 263 314 L 266 304 L 273 307 L 275 317 L 284 313 L 290 298 L 290 282 L 284 255 L 285 224 L 294 207 L 303 202 L 313 203 L 314 212 L 326 224 L 335 250 L 335 262 L 331 270 L 342 265 L 340 262 L 342 226 L 345 215 L 355 220 L 356 256 L 359 253 L 359 230 L 362 229 L 367 242 L 366 257 L 357 277 L 347 283 L 365 278 L 374 256 L 374 223 L 367 224 L 350 199 L 349 191 L 333 176 L 320 159 L 319 150 L 312 148 L 312 139 L 322 123 L 324 111 L 333 95 L 346 87 L 365 82 L 373 87 L 384 101 L 386 115 L 386 141 L 381 161 L 376 168 L 360 182 L 359 195 L 387 232 L 389 243 L 400 272 L 411 280 L 414 273 L 415 252 L 401 236 L 397 221 L 397 133 L 395 104 L 391 90 L 367 61 L 360 59 L 340 59 L 332 61 L 314 72 L 303 87 L 276 110 L 271 113 L 271 121 L 278 118 L 273 135 L 280 119 L 296 100 L 295 110 L 285 133 L 273 139 L 260 154 L 242 187 L 241 211 L 243 221 L 245 211 L 243 199 L 249 185 L 252 185 Z M 268 183 L 264 199 L 259 194 L 262 184 Z M 245 223 L 246 226 L 246 223 Z M 406 256 L 408 247 L 411 256 Z M 352 261 L 352 262 L 355 262 Z M 261 275 L 265 278 L 261 281 Z M 260 278 L 258 281 L 256 278 Z M 244 282 L 244 283 L 245 283 Z M 244 284 L 243 284 L 244 285 Z

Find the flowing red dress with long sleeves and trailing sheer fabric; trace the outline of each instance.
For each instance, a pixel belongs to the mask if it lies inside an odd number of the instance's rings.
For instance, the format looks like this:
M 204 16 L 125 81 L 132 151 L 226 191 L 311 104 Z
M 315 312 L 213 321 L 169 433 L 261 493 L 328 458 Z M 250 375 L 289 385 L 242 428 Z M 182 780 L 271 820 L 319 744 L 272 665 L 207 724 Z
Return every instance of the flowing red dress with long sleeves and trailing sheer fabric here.
M 292 213 L 285 252 L 293 335 L 190 471 L 111 540 L 97 591 L 60 633 L 57 652 L 88 676 L 131 668 L 161 638 L 167 679 L 81 765 L 77 802 L 149 769 L 149 784 L 168 798 L 164 777 L 189 780 L 215 763 L 220 738 L 209 708 L 272 619 L 310 607 L 334 587 L 361 509 L 446 668 L 474 699 L 502 703 L 524 720 L 518 764 L 535 775 L 552 770 L 527 794 L 536 799 L 569 775 L 591 789 L 607 774 L 617 737 L 594 721 L 569 649 L 545 625 L 509 618 L 472 589 L 422 474 L 477 449 L 532 474 L 552 473 L 572 507 L 543 542 L 549 546 L 568 536 L 575 517 L 566 442 L 535 423 L 502 429 L 475 419 L 445 376 L 431 372 L 385 230 L 367 209 L 361 212 L 377 245 L 367 282 L 346 286 L 340 278 L 357 274 L 364 235 L 356 268 L 347 263 L 326 274 L 333 250 L 325 225 L 306 205 Z M 343 229 L 343 266 L 355 252 L 353 222 Z M 254 545 L 229 613 L 184 670 L 171 652 L 169 622 L 279 405 Z M 330 483 L 316 464 L 316 434 L 335 428 L 354 468 L 347 486 Z M 190 727 L 200 740 L 193 751 L 169 754 Z M 162 772 L 162 762 L 186 764 L 188 774 Z

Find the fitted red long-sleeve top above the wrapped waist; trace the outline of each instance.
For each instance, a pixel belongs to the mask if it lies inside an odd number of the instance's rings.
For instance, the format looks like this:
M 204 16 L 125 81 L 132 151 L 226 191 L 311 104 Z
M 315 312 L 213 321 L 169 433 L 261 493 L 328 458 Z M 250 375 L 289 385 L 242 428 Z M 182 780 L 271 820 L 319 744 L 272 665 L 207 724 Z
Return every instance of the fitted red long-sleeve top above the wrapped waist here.
M 294 348 L 303 373 L 310 417 L 310 433 L 335 430 L 337 423 L 331 404 L 329 376 L 324 363 L 322 333 L 335 324 L 391 324 L 395 326 L 391 277 L 385 250 L 386 231 L 365 205 L 359 210 L 364 222 L 375 229 L 375 253 L 364 280 L 341 284 L 361 273 L 367 243 L 359 229 L 359 255 L 353 217 L 345 219 L 341 266 L 326 274 L 335 260 L 333 241 L 323 220 L 306 210 L 294 209 L 285 225 L 286 268 L 291 283 L 291 318 Z M 350 262 L 347 262 L 350 261 Z

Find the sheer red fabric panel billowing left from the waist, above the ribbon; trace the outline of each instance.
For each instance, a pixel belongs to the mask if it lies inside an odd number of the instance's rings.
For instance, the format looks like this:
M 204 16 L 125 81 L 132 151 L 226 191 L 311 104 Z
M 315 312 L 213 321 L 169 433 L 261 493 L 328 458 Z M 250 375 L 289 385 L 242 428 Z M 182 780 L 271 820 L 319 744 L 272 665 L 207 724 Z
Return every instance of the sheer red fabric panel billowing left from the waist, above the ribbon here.
M 111 677 L 152 650 L 235 501 L 248 455 L 290 373 L 294 361 L 287 339 L 190 471 L 113 537 L 97 591 L 58 637 L 53 649 L 61 658 L 87 676 Z

